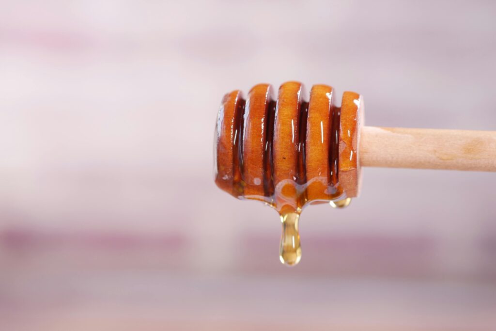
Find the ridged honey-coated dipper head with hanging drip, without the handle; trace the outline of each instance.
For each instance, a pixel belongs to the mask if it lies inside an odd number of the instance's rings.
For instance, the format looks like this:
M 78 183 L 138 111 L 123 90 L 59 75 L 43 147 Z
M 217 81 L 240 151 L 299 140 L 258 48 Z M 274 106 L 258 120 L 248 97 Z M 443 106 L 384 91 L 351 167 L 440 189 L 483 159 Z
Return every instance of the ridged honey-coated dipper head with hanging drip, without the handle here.
M 215 137 L 215 182 L 238 199 L 265 202 L 280 215 L 280 260 L 301 259 L 299 218 L 307 204 L 347 206 L 358 195 L 362 97 L 333 88 L 286 82 L 274 100 L 269 84 L 224 96 Z

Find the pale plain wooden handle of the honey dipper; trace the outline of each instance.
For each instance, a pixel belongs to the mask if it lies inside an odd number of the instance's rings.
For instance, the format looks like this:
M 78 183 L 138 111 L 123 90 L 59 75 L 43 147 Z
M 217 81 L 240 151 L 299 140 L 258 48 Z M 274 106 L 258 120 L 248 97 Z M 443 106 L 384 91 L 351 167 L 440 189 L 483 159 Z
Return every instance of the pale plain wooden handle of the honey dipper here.
M 363 127 L 365 167 L 496 171 L 496 131 Z

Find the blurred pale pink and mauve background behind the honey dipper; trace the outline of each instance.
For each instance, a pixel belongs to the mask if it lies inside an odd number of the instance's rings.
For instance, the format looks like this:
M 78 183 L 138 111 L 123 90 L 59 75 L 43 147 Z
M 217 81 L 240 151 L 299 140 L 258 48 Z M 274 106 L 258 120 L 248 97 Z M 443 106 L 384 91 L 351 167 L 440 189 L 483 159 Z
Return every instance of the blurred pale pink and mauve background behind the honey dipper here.
M 495 330 L 493 173 L 373 169 L 345 210 L 213 182 L 224 93 L 496 130 L 494 1 L 0 0 L 1 330 Z

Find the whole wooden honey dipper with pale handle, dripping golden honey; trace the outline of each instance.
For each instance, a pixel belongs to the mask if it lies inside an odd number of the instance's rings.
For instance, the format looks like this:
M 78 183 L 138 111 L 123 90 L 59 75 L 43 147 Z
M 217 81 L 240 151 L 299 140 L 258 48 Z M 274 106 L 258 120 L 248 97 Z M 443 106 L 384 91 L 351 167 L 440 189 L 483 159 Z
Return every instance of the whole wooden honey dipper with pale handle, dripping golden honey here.
M 364 100 L 286 82 L 277 100 L 258 84 L 244 99 L 224 96 L 215 135 L 215 183 L 239 199 L 274 207 L 283 226 L 280 260 L 301 259 L 298 222 L 307 204 L 347 206 L 358 197 L 361 167 L 496 171 L 496 132 L 364 126 Z

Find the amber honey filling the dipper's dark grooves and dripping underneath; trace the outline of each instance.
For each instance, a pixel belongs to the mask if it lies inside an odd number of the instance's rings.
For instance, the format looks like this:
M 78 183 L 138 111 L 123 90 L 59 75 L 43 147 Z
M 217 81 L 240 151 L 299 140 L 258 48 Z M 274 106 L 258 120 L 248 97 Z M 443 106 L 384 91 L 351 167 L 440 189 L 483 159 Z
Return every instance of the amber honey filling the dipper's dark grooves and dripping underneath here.
M 237 136 L 237 155 L 234 159 L 233 190 L 231 193 L 238 199 L 254 199 L 264 201 L 273 207 L 280 216 L 282 223 L 282 235 L 280 243 L 280 261 L 285 265 L 296 265 L 300 262 L 302 249 L 299 234 L 299 219 L 302 209 L 310 203 L 331 202 L 333 207 L 345 207 L 350 200 L 344 194 L 338 181 L 338 158 L 339 158 L 339 121 L 340 108 L 332 107 L 331 127 L 329 132 L 329 158 L 328 173 L 309 178 L 306 173 L 306 138 L 308 120 L 308 102 L 302 102 L 298 119 L 298 156 L 297 171 L 292 179 L 278 180 L 274 173 L 274 122 L 276 102 L 271 101 L 267 107 L 264 132 L 266 137 L 266 148 L 263 156 L 263 195 L 246 195 L 245 187 L 248 185 L 243 178 L 243 136 L 244 136 L 244 112 L 245 100 L 238 103 L 237 117 L 233 126 Z M 324 134 L 322 132 L 322 134 Z M 312 185 L 312 197 L 309 198 L 308 188 Z M 315 190 L 316 188 L 316 190 Z

